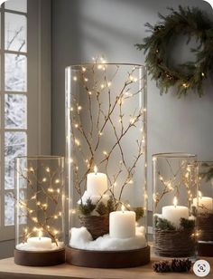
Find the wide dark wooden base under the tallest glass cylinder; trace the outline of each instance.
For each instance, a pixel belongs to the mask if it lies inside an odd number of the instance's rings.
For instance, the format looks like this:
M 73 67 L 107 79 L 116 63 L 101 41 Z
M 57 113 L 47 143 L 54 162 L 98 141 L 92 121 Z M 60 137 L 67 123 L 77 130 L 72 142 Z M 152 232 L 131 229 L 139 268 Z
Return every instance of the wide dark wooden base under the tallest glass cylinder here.
M 150 246 L 128 251 L 89 251 L 66 246 L 66 262 L 95 268 L 125 268 L 150 262 Z

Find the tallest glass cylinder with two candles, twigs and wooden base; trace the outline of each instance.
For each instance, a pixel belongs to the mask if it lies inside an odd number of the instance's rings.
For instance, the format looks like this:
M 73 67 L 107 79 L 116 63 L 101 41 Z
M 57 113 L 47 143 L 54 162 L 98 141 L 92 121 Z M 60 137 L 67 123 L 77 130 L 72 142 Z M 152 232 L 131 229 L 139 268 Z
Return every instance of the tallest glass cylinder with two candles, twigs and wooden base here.
M 134 64 L 66 69 L 71 265 L 150 261 L 146 240 L 146 72 Z

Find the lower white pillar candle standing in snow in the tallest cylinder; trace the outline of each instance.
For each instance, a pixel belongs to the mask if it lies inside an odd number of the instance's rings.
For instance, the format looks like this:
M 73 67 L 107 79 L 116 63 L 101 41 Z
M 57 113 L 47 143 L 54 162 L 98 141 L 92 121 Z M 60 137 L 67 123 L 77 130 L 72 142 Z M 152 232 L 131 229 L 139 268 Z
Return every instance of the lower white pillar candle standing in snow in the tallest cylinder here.
M 109 236 L 113 238 L 132 238 L 135 236 L 135 212 L 114 211 L 109 215 Z

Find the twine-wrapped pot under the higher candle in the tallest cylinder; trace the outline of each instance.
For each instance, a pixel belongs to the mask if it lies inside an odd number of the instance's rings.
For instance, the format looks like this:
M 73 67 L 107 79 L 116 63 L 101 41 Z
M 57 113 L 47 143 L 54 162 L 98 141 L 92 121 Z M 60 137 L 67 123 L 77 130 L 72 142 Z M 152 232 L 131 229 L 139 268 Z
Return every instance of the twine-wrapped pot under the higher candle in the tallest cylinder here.
M 93 239 L 109 233 L 109 216 L 79 216 L 80 226 L 85 226 Z

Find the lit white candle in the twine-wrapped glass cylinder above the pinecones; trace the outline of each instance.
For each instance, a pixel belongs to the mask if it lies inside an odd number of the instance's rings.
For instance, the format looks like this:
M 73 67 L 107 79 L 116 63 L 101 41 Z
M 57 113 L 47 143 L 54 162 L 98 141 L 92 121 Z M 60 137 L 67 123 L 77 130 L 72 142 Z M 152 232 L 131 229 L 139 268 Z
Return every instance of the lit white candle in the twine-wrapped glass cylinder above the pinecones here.
M 174 226 L 180 226 L 181 218 L 189 219 L 189 208 L 177 206 L 176 197 L 173 204 L 173 206 L 162 207 L 162 218 L 167 219 Z

